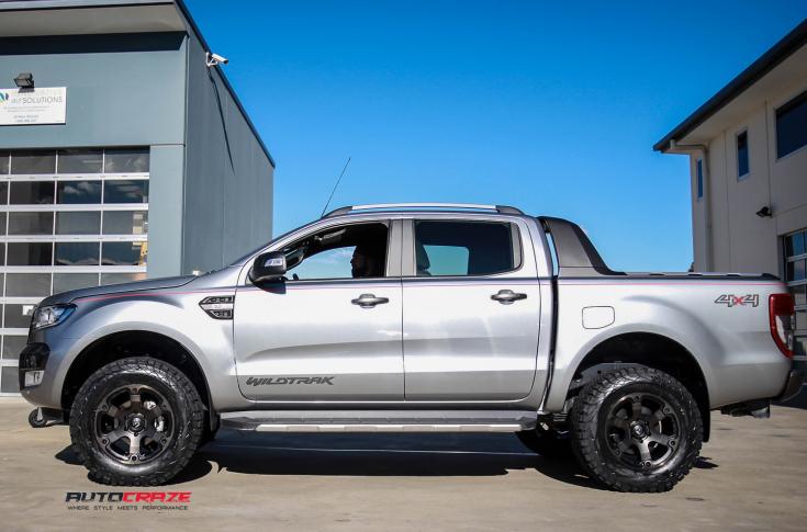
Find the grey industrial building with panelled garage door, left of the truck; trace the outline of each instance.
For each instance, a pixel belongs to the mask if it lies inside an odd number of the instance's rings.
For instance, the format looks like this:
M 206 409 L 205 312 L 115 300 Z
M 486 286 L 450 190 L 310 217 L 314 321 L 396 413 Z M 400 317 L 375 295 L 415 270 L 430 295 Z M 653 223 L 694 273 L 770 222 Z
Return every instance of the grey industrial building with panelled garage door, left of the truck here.
M 0 395 L 43 297 L 269 240 L 274 161 L 210 52 L 181 1 L 0 0 Z

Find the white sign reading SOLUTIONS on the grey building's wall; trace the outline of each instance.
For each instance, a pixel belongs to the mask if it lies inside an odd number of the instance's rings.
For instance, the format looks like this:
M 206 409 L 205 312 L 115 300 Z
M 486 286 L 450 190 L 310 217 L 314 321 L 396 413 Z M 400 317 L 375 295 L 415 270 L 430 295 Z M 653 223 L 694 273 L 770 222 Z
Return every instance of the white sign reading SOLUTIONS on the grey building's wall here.
M 0 126 L 64 124 L 66 87 L 0 89 Z

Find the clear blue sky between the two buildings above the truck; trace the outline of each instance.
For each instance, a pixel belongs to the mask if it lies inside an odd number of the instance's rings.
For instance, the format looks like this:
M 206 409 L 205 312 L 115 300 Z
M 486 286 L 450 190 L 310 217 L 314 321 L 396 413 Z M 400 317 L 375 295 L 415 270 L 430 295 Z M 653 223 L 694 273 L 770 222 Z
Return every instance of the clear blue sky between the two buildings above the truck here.
M 273 234 L 332 207 L 512 204 L 613 268 L 692 262 L 686 158 L 652 145 L 804 1 L 187 0 L 278 162 Z M 651 5 L 653 8 L 651 8 Z

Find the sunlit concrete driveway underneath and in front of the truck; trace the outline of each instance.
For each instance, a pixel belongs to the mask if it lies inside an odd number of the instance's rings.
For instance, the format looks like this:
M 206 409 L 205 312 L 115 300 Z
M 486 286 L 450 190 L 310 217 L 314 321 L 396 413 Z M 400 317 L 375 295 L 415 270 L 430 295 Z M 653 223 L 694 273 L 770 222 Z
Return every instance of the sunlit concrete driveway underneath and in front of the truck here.
M 804 403 L 775 407 L 769 420 L 714 415 L 711 442 L 673 491 L 627 495 L 601 489 L 574 462 L 529 453 L 511 434 L 222 431 L 170 486 L 111 488 L 88 480 L 66 427 L 32 429 L 30 406 L 4 398 L 0 529 L 802 531 Z M 65 500 L 100 491 L 189 493 L 190 501 Z

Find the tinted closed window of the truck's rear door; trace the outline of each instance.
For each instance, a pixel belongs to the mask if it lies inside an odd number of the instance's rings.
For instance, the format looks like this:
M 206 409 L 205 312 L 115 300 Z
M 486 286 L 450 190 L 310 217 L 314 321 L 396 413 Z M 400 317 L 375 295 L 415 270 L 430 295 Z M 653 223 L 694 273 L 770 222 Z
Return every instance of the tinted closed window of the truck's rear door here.
M 415 223 L 415 271 L 418 278 L 491 275 L 519 265 L 518 230 L 512 224 Z

